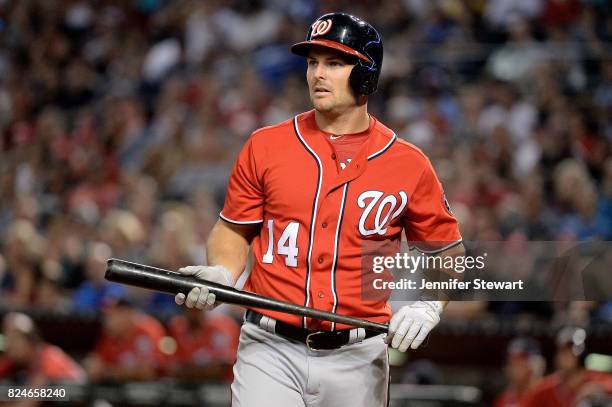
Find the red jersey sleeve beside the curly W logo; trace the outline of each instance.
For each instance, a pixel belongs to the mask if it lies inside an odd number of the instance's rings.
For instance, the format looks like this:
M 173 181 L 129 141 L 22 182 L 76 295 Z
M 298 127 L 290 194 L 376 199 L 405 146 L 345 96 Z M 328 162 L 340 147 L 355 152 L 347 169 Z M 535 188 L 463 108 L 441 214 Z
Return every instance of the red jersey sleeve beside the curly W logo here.
M 436 253 L 461 241 L 459 225 L 429 160 L 408 197 L 403 224 L 409 244 L 422 252 Z

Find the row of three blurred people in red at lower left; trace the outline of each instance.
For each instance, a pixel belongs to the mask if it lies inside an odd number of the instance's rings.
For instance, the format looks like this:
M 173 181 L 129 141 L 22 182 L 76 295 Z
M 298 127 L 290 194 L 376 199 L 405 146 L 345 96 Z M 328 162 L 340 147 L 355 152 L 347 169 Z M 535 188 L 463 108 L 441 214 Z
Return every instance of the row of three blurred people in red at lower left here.
M 127 298 L 107 301 L 101 311 L 98 339 L 80 360 L 45 341 L 27 314 L 7 313 L 2 321 L 0 383 L 116 384 L 161 377 L 193 384 L 231 381 L 240 330 L 232 318 L 194 309 L 175 315 L 164 326 Z

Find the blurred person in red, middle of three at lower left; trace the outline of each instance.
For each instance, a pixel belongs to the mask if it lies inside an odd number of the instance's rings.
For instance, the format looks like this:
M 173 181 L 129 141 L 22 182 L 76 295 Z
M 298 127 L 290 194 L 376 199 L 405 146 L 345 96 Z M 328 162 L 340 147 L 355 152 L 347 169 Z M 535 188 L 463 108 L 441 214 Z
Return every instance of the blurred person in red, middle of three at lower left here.
M 159 321 L 120 298 L 104 306 L 102 323 L 101 337 L 85 360 L 92 382 L 152 380 L 159 376 L 165 336 Z

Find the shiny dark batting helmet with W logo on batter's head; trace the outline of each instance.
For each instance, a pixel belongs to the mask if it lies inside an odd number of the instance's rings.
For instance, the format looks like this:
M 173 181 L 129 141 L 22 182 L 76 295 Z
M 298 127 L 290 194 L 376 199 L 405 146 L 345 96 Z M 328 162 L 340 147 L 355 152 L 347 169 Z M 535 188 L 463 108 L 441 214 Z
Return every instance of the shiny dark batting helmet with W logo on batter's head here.
M 346 13 L 324 14 L 310 26 L 306 41 L 291 47 L 294 54 L 308 56 L 313 45 L 333 48 L 357 62 L 349 81 L 360 95 L 374 93 L 382 67 L 382 38 L 367 22 Z

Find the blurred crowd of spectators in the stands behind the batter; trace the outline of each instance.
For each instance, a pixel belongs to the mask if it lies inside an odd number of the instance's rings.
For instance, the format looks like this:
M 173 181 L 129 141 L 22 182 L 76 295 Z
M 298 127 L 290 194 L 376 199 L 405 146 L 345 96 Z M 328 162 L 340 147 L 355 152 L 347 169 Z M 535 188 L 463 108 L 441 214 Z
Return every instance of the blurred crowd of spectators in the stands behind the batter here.
M 5 0 L 0 305 L 189 319 L 105 262 L 203 263 L 245 139 L 310 109 L 290 44 L 337 10 L 380 30 L 370 110 L 431 157 L 464 240 L 612 240 L 606 0 Z

